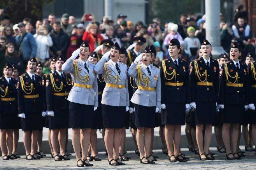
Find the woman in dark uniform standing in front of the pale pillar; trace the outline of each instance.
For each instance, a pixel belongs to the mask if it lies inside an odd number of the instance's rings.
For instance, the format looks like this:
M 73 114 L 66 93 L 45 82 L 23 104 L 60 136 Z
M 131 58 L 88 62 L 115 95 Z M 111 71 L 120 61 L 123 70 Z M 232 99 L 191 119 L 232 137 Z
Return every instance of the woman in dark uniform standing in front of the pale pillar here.
M 191 63 L 191 106 L 196 109 L 196 142 L 200 160 L 215 160 L 209 153 L 212 125 L 216 120 L 219 91 L 219 64 L 210 58 L 212 45 L 205 39 L 201 44 L 203 56 Z M 203 142 L 203 127 L 205 134 Z M 203 147 L 204 143 L 204 147 Z

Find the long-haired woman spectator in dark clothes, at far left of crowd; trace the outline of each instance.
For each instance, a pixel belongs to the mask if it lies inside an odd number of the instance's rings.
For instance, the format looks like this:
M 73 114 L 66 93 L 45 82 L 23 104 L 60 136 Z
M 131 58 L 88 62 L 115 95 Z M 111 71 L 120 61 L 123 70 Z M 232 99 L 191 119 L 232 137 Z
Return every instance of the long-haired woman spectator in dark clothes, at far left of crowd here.
M 11 64 L 15 64 L 16 68 L 23 69 L 23 63 L 19 58 L 19 56 L 17 55 L 17 52 L 15 50 L 13 43 L 8 43 L 6 45 L 5 58 L 9 60 Z

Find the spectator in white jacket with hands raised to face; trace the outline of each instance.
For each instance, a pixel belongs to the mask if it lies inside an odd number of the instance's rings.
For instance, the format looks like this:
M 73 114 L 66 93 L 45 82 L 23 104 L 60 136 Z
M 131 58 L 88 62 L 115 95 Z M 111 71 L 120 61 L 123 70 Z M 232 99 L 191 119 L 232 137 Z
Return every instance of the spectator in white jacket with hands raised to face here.
M 39 29 L 37 29 L 37 33 L 34 35 L 34 38 L 37 42 L 36 56 L 39 57 L 44 64 L 46 60 L 50 58 L 49 48 L 53 46 L 53 41 L 49 35 L 47 26 L 41 25 Z

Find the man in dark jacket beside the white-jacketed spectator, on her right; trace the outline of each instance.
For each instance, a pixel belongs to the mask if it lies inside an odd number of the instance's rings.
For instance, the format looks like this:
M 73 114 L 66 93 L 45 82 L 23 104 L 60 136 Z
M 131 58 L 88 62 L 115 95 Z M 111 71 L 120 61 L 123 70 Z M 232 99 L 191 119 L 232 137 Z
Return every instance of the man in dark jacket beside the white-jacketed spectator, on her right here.
M 56 21 L 53 24 L 53 30 L 50 33 L 53 40 L 53 46 L 50 50 L 54 53 L 53 56 L 64 56 L 66 57 L 66 51 L 68 49 L 68 35 L 63 31 L 60 25 L 60 21 Z

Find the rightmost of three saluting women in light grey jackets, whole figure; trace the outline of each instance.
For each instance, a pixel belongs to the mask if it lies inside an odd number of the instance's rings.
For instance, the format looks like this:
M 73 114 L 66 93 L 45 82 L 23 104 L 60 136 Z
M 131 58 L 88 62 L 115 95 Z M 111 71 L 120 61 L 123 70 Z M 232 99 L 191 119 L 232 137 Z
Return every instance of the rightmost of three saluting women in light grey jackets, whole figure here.
M 142 64 L 137 65 L 140 59 Z M 135 78 L 138 86 L 131 101 L 135 106 L 140 163 L 146 164 L 154 163 L 150 158 L 151 128 L 155 127 L 155 113 L 161 110 L 160 70 L 150 64 L 151 60 L 152 52 L 146 47 L 128 70 L 128 76 Z

